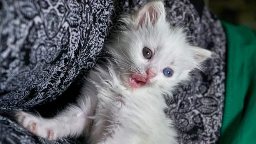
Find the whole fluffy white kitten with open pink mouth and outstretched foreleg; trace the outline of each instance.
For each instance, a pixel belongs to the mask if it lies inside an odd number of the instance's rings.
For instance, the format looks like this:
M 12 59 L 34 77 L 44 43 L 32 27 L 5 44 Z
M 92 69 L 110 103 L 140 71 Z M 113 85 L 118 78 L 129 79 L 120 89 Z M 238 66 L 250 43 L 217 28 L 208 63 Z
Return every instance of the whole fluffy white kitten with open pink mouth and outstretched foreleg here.
M 90 71 L 77 103 L 54 118 L 18 112 L 17 121 L 47 139 L 89 135 L 89 144 L 176 144 L 163 95 L 189 79 L 211 52 L 190 46 L 165 20 L 163 2 L 121 19 L 112 58 Z

